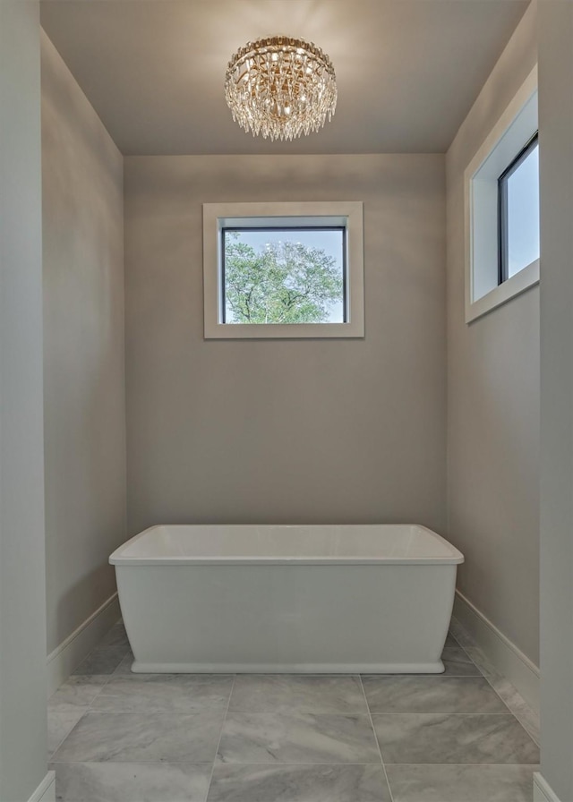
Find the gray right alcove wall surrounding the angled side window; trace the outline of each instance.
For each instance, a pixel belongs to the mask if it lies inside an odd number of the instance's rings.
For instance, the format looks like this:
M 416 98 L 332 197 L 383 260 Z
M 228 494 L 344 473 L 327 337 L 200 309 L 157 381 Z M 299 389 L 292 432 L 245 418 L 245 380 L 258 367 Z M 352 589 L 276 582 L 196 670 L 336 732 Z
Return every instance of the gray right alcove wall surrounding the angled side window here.
M 539 664 L 539 290 L 464 320 L 464 170 L 535 66 L 531 5 L 446 158 L 449 539 L 458 587 Z

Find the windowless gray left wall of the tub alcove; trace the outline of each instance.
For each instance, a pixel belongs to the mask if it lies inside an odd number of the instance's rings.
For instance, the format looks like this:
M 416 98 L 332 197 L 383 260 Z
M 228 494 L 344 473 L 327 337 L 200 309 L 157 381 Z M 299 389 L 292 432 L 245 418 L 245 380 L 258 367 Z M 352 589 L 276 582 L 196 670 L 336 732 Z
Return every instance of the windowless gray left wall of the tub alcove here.
M 123 158 L 42 34 L 47 647 L 115 592 L 125 533 Z

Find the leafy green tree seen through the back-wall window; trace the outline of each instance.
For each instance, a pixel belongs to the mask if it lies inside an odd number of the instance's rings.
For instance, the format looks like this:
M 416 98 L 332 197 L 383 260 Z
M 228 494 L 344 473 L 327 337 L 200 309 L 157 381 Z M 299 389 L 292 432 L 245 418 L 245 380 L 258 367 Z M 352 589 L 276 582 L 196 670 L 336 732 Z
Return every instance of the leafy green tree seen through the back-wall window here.
M 227 323 L 324 323 L 343 299 L 343 270 L 321 248 L 277 240 L 255 249 L 228 230 L 224 243 Z

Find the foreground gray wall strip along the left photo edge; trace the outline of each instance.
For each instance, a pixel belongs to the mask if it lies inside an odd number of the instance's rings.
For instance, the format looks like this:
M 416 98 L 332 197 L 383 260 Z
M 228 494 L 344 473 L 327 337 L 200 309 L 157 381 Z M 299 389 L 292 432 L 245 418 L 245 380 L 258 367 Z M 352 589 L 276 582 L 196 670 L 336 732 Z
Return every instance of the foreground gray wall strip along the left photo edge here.
M 0 3 L 0 799 L 47 771 L 39 9 Z

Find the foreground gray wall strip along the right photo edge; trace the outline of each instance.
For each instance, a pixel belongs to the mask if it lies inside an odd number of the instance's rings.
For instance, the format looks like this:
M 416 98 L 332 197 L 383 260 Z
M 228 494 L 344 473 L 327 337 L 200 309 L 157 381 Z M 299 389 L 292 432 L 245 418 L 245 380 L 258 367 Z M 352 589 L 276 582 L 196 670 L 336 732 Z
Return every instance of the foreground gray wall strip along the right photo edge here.
M 539 5 L 542 772 L 573 799 L 573 4 Z

